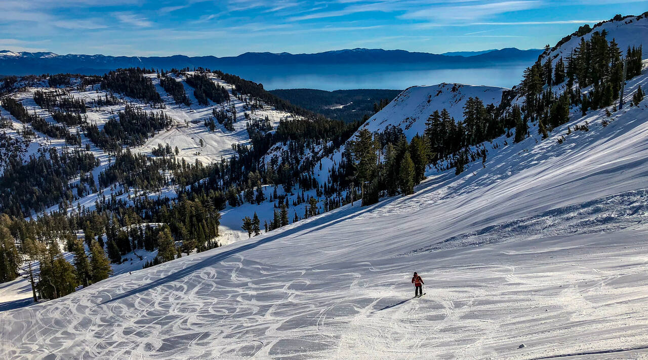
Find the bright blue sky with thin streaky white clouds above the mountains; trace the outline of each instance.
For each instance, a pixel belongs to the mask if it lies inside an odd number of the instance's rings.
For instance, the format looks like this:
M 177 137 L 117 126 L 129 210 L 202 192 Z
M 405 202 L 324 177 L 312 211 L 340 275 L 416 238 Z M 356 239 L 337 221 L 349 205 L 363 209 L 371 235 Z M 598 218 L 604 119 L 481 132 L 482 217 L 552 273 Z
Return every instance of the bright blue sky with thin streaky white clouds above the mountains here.
M 355 47 L 528 49 L 579 25 L 641 14 L 628 0 L 0 0 L 0 49 L 234 56 Z

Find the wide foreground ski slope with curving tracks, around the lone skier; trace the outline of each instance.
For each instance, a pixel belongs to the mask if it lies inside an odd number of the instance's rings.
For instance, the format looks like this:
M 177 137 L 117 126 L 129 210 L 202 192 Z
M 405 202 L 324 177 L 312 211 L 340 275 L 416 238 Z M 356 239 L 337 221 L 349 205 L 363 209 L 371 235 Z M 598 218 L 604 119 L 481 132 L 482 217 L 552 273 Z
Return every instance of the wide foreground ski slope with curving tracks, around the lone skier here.
M 638 85 L 645 69 L 628 99 Z M 509 138 L 485 166 L 430 172 L 411 196 L 0 312 L 0 357 L 643 357 L 648 100 L 604 117 Z

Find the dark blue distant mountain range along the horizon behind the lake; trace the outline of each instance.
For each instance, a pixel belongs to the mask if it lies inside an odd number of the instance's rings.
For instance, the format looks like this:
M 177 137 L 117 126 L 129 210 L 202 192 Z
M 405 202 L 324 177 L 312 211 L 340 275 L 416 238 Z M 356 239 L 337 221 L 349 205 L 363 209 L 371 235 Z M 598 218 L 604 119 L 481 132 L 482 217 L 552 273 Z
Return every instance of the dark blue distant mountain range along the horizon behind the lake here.
M 43 73 L 103 74 L 120 67 L 171 69 L 207 67 L 235 71 L 240 67 L 284 67 L 294 65 L 406 65 L 435 68 L 481 67 L 501 63 L 533 62 L 542 53 L 540 49 L 507 48 L 476 52 L 409 52 L 383 49 L 345 49 L 316 54 L 288 52 L 246 52 L 238 56 L 104 56 L 101 54 L 67 54 L 53 52 L 0 51 L 0 74 L 27 75 Z

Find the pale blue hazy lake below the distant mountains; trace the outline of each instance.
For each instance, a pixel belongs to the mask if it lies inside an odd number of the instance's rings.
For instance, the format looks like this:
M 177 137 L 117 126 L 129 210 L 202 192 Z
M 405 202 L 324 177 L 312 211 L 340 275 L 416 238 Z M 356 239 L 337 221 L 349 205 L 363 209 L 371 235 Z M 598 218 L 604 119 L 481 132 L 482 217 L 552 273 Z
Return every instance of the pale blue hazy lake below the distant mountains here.
M 385 65 L 335 66 L 233 66 L 224 71 L 260 82 L 273 89 L 406 89 L 413 85 L 456 82 L 471 85 L 513 87 L 520 83 L 527 64 L 459 69 L 424 68 L 423 65 L 392 67 Z

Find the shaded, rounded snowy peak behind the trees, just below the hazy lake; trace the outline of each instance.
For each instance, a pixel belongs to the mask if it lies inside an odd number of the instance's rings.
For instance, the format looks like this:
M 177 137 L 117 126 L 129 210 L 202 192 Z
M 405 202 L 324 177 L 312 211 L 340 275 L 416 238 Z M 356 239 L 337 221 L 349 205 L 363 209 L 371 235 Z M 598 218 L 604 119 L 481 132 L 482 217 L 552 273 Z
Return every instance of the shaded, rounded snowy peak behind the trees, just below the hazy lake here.
M 408 140 L 411 140 L 414 135 L 423 134 L 425 122 L 435 110 L 446 109 L 451 117 L 460 120 L 469 98 L 478 97 L 485 105 L 497 106 L 502 100 L 502 91 L 505 90 L 504 87 L 446 83 L 413 86 L 369 118 L 360 129 L 375 133 L 393 125 L 402 129 Z

